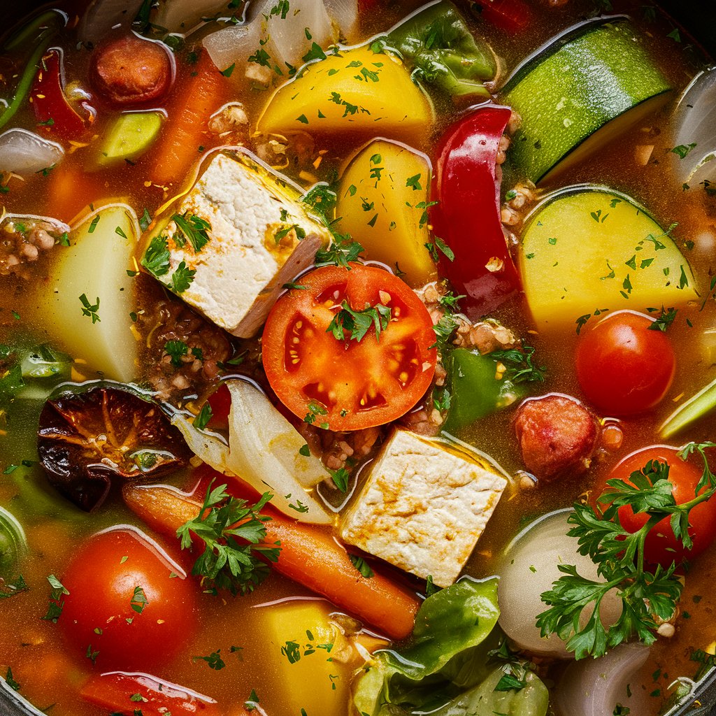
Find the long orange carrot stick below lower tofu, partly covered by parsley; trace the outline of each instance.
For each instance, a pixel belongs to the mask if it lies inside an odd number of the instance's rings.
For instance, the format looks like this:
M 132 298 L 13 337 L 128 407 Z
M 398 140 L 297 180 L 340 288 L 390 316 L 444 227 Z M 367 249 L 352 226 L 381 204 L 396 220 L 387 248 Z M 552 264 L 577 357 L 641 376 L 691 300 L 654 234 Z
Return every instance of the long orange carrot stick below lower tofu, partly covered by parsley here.
M 125 503 L 142 521 L 167 536 L 175 536 L 184 523 L 198 516 L 201 503 L 192 495 L 163 485 L 126 485 Z M 366 579 L 354 567 L 347 551 L 331 533 L 316 526 L 291 521 L 281 513 L 264 508 L 266 542 L 281 542 L 276 571 L 322 594 L 341 609 L 372 624 L 392 639 L 412 632 L 419 601 L 378 571 Z

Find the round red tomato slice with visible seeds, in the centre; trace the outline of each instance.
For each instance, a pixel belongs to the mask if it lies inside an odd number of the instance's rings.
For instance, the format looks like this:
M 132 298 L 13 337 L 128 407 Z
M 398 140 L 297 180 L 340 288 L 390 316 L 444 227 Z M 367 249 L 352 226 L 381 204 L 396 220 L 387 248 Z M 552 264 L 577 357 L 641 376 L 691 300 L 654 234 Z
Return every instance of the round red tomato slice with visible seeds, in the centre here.
M 432 320 L 397 276 L 352 263 L 302 276 L 276 303 L 263 330 L 263 367 L 279 400 L 330 430 L 383 425 L 410 410 L 430 387 L 437 351 Z M 391 309 L 377 337 L 337 339 L 329 330 L 347 301 L 354 311 Z

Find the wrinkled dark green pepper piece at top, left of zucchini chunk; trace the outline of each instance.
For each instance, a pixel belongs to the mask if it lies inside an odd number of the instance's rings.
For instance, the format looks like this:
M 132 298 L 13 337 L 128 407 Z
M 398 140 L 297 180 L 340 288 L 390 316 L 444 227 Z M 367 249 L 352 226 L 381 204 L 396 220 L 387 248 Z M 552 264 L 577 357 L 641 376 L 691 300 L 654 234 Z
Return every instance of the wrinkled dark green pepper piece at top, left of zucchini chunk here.
M 454 97 L 490 97 L 482 82 L 495 77 L 495 58 L 475 40 L 448 0 L 437 0 L 400 23 L 388 44 L 413 64 L 413 76 Z

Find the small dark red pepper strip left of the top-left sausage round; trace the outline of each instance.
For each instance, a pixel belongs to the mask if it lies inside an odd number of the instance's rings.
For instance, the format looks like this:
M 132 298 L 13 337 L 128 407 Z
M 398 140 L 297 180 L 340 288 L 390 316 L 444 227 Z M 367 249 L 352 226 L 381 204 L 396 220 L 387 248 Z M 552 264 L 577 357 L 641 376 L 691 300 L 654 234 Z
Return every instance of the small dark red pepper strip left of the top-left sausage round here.
M 35 110 L 37 124 L 50 134 L 64 139 L 82 135 L 84 120 L 67 101 L 62 87 L 62 52 L 51 49 L 44 54 L 35 78 L 30 102 Z

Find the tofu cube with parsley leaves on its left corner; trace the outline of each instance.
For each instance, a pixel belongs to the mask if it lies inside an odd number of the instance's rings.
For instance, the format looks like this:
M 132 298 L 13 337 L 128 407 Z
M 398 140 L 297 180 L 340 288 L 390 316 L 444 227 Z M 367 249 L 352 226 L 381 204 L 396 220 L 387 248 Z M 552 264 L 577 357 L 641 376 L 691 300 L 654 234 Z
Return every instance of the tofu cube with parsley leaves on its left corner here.
M 329 231 L 306 213 L 300 195 L 253 155 L 219 153 L 163 230 L 152 227 L 150 237 L 163 236 L 170 253 L 168 270 L 152 273 L 177 292 L 172 276 L 184 262 L 183 270 L 195 274 L 178 295 L 229 333 L 253 336 L 283 285 L 329 243 Z M 199 251 L 178 231 L 176 215 L 211 226 Z

